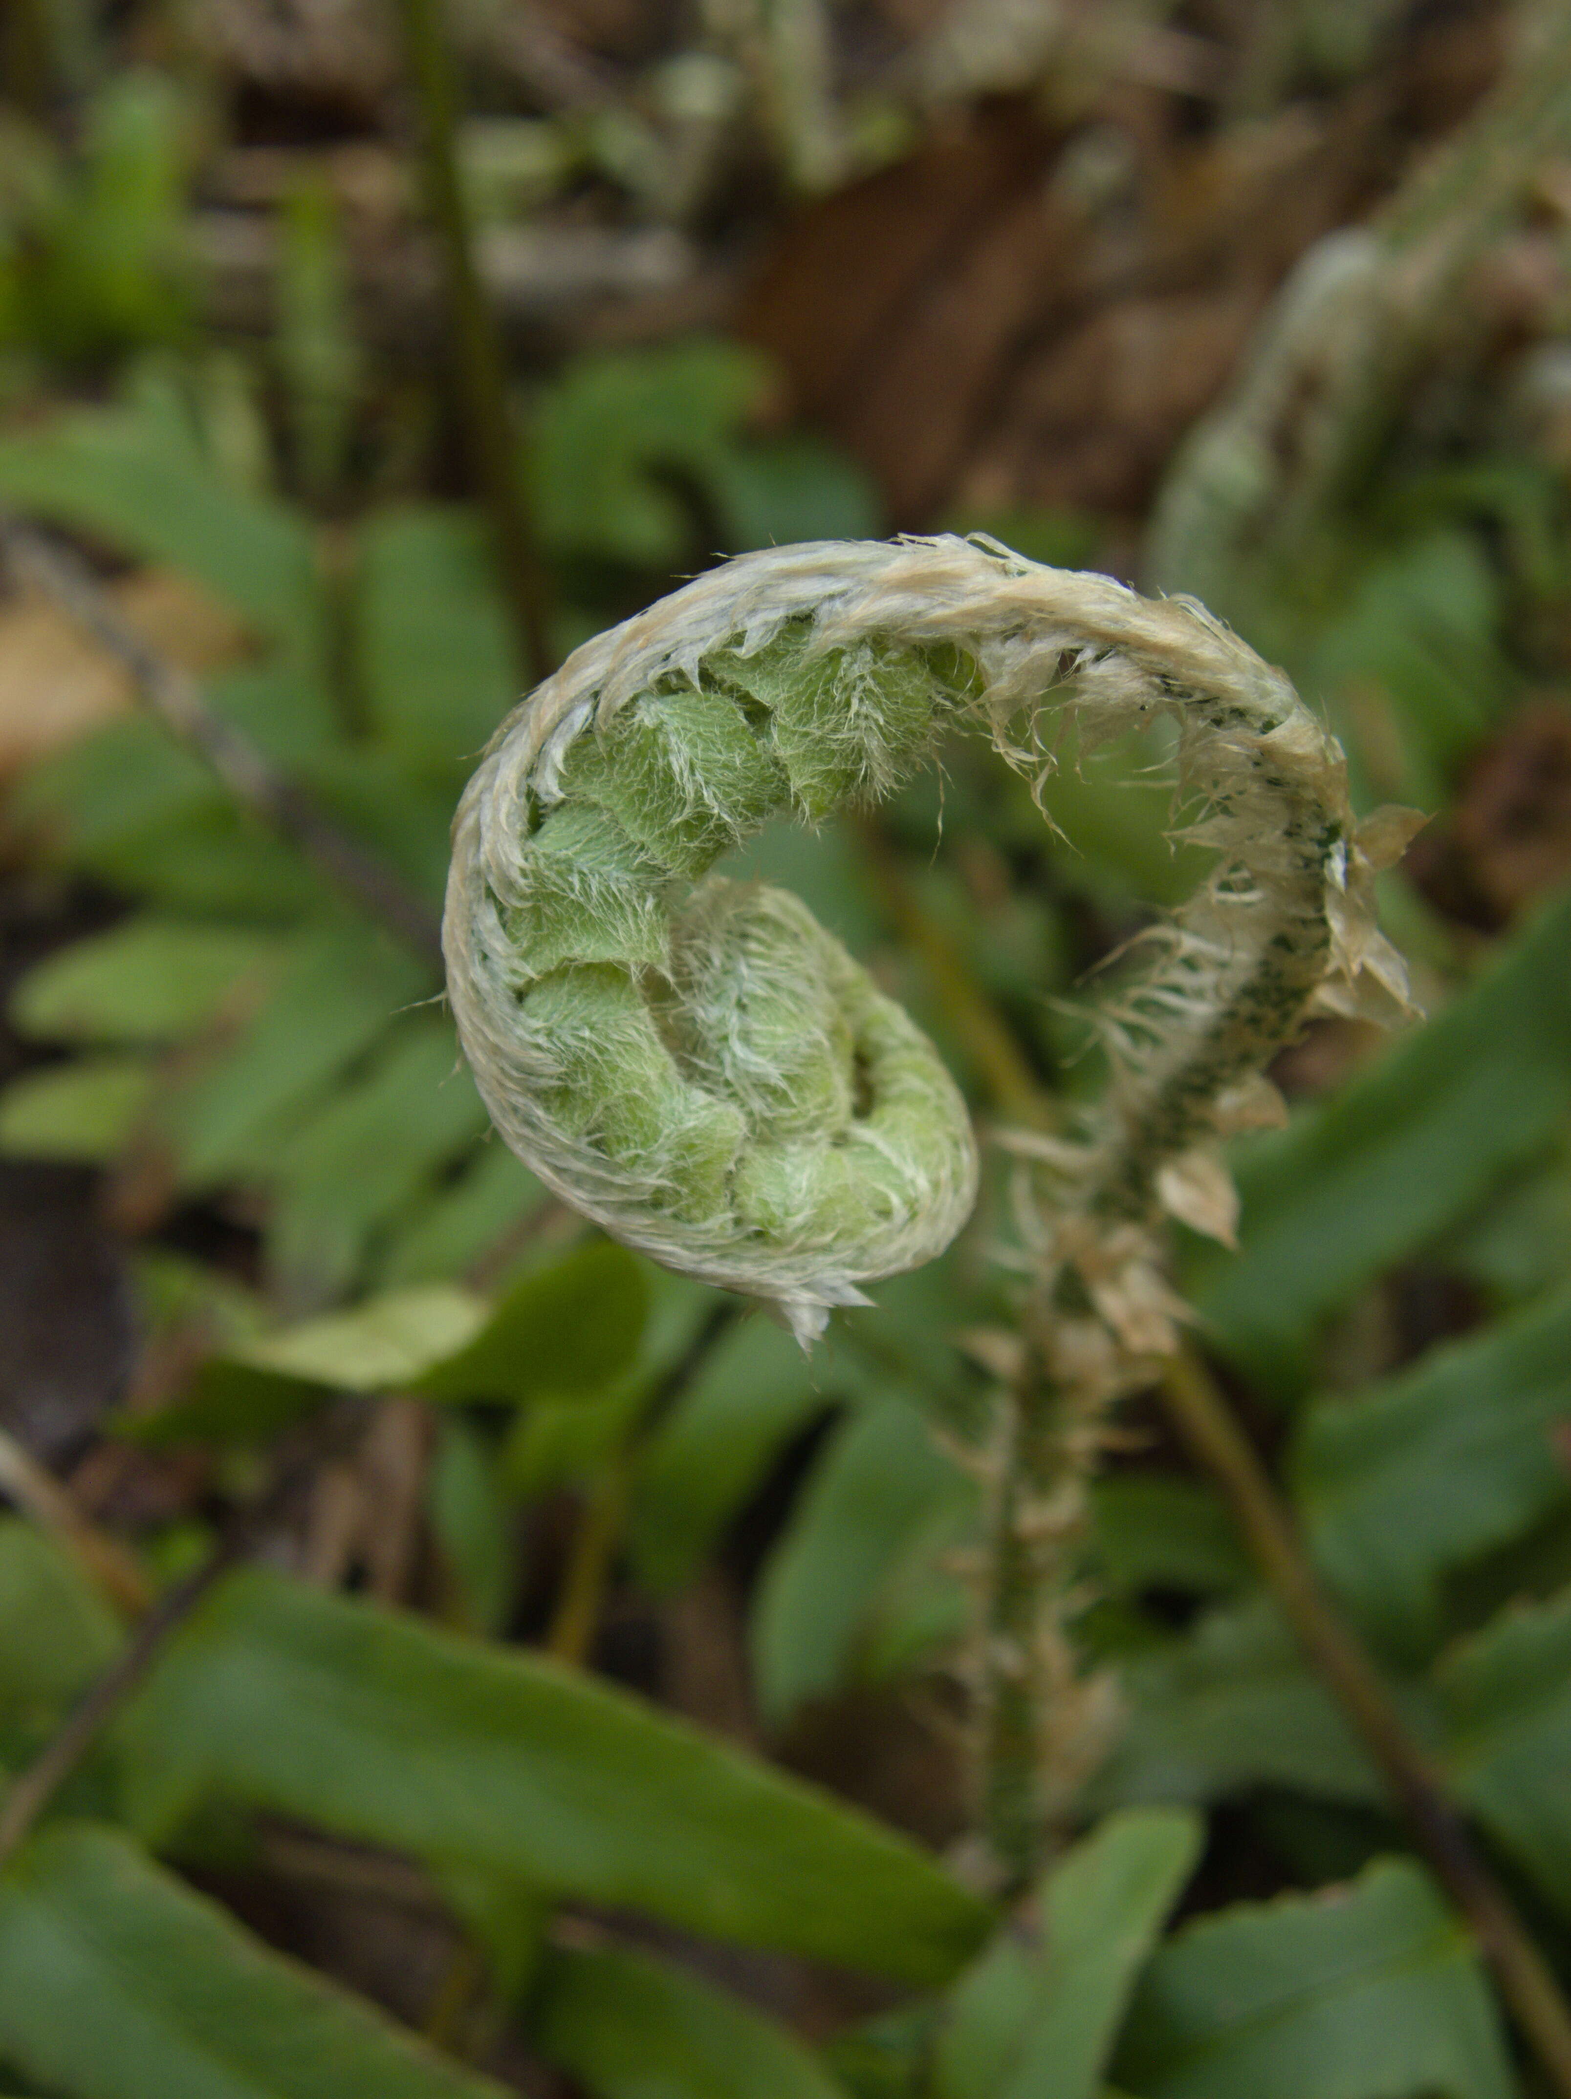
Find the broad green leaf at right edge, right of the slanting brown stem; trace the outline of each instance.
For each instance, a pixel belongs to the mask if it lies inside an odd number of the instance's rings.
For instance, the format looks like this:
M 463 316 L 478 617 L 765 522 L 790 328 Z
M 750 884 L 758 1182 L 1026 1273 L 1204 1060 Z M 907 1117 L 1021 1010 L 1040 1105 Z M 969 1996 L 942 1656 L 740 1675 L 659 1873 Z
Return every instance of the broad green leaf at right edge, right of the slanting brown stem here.
M 1294 1488 L 1315 1557 L 1399 1654 L 1441 1637 L 1441 1574 L 1516 1536 L 1571 1490 L 1571 1297 L 1437 1350 L 1369 1392 L 1308 1408 Z

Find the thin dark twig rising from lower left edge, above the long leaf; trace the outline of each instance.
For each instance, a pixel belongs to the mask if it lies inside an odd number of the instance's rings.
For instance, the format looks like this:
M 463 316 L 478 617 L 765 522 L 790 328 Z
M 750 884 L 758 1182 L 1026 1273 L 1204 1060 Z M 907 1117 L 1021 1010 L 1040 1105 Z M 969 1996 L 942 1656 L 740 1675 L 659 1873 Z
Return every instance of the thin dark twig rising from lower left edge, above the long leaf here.
M 244 1560 L 271 1524 L 290 1507 L 321 1461 L 323 1442 L 336 1444 L 344 1436 L 357 1436 L 363 1419 L 363 1402 L 347 1400 L 321 1423 L 313 1425 L 313 1432 L 302 1438 L 296 1457 L 281 1465 L 273 1484 L 256 1501 L 233 1513 L 202 1566 L 164 1591 L 113 1662 L 88 1683 L 59 1730 L 6 1790 L 4 1805 L 0 1805 L 0 1866 L 27 1839 L 42 1811 L 78 1763 L 82 1763 L 103 1727 L 143 1681 L 164 1652 L 164 1641 L 170 1633 L 185 1625 L 214 1583 L 235 1562 Z

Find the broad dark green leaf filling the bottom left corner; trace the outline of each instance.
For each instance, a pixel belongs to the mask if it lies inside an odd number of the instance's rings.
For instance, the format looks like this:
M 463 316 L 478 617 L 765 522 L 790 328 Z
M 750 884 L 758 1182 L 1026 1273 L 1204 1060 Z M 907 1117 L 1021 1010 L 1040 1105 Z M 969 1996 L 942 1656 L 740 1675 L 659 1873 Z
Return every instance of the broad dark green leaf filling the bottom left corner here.
M 88 1822 L 0 1881 L 0 2053 L 61 2099 L 502 2099 Z

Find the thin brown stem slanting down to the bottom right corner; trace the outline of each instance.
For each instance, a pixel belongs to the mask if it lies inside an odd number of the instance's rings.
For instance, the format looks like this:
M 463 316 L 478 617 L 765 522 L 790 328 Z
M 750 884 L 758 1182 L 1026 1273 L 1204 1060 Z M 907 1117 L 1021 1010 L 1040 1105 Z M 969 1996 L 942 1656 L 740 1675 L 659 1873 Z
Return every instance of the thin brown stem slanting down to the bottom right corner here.
M 1285 1501 L 1224 1394 L 1199 1358 L 1185 1350 L 1168 1364 L 1161 1396 L 1185 1442 L 1233 1505 L 1283 1618 L 1384 1774 L 1418 1847 L 1472 1925 L 1550 2084 L 1571 2095 L 1571 2009 L 1560 1986 L 1449 1799 L 1445 1776 L 1407 1732 L 1380 1671 L 1332 1606 Z

